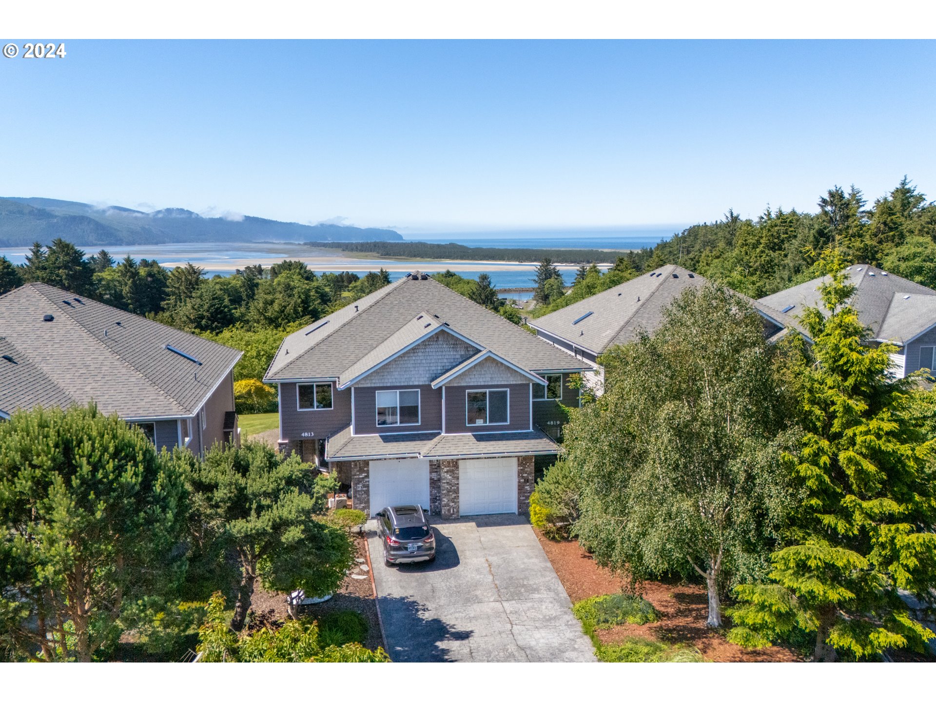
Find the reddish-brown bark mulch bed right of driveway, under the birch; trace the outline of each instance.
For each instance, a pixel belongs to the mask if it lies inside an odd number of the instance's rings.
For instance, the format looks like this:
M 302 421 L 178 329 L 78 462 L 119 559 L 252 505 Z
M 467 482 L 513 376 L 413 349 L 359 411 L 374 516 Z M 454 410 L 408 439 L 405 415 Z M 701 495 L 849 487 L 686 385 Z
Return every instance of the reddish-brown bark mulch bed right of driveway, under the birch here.
M 537 538 L 546 551 L 565 592 L 573 602 L 599 594 L 621 592 L 622 578 L 594 563 L 592 556 L 578 546 L 578 541 L 550 541 L 538 531 Z M 624 624 L 596 631 L 602 643 L 615 643 L 627 636 L 642 636 L 661 643 L 684 643 L 695 646 L 707 661 L 724 662 L 795 662 L 803 660 L 796 651 L 773 646 L 768 649 L 743 649 L 725 640 L 724 635 L 709 631 L 709 600 L 705 588 L 685 583 L 643 583 L 639 594 L 660 613 L 660 621 L 650 624 Z

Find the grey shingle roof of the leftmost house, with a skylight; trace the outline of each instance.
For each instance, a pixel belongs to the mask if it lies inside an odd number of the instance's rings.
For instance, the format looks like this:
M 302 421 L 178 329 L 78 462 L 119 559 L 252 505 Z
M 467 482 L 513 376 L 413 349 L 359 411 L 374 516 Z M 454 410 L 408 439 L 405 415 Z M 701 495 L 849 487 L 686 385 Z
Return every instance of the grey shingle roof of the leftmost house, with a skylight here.
M 0 295 L 0 346 L 0 356 L 13 358 L 0 358 L 7 414 L 94 401 L 124 418 L 192 417 L 241 358 L 236 349 L 42 283 Z

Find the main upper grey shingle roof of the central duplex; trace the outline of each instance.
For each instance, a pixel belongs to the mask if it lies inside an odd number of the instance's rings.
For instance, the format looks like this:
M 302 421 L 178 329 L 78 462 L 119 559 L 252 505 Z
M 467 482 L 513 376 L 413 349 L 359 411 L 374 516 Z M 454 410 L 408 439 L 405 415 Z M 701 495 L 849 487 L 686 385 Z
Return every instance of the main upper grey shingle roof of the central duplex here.
M 580 361 L 500 314 L 428 276 L 413 274 L 287 336 L 264 380 L 338 379 L 346 385 L 353 373 L 359 376 L 386 360 L 377 357 L 392 356 L 425 338 L 420 332 L 426 322 L 417 320 L 425 313 L 434 320 L 426 333 L 433 326 L 445 327 L 528 371 L 583 369 Z

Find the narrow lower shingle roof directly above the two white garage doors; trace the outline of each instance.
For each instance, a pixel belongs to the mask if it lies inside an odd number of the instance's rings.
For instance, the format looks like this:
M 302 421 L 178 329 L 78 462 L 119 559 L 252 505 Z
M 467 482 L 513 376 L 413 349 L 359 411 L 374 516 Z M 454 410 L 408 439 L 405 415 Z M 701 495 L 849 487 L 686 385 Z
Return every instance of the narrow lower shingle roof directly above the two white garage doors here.
M 353 436 L 351 427 L 331 436 L 326 443 L 326 461 L 423 458 L 464 459 L 484 456 L 529 456 L 553 454 L 559 446 L 540 430 L 492 433 L 441 434 L 385 433 Z

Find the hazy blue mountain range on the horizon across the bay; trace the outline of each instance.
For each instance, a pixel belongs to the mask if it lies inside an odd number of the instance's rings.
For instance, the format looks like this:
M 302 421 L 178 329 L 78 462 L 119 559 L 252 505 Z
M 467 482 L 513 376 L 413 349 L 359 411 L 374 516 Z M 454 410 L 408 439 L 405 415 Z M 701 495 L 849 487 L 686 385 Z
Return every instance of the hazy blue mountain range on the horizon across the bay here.
M 0 197 L 0 247 L 62 238 L 77 246 L 202 241 L 403 241 L 392 229 L 300 225 L 250 216 L 202 217 L 169 208 L 139 212 L 48 197 Z

